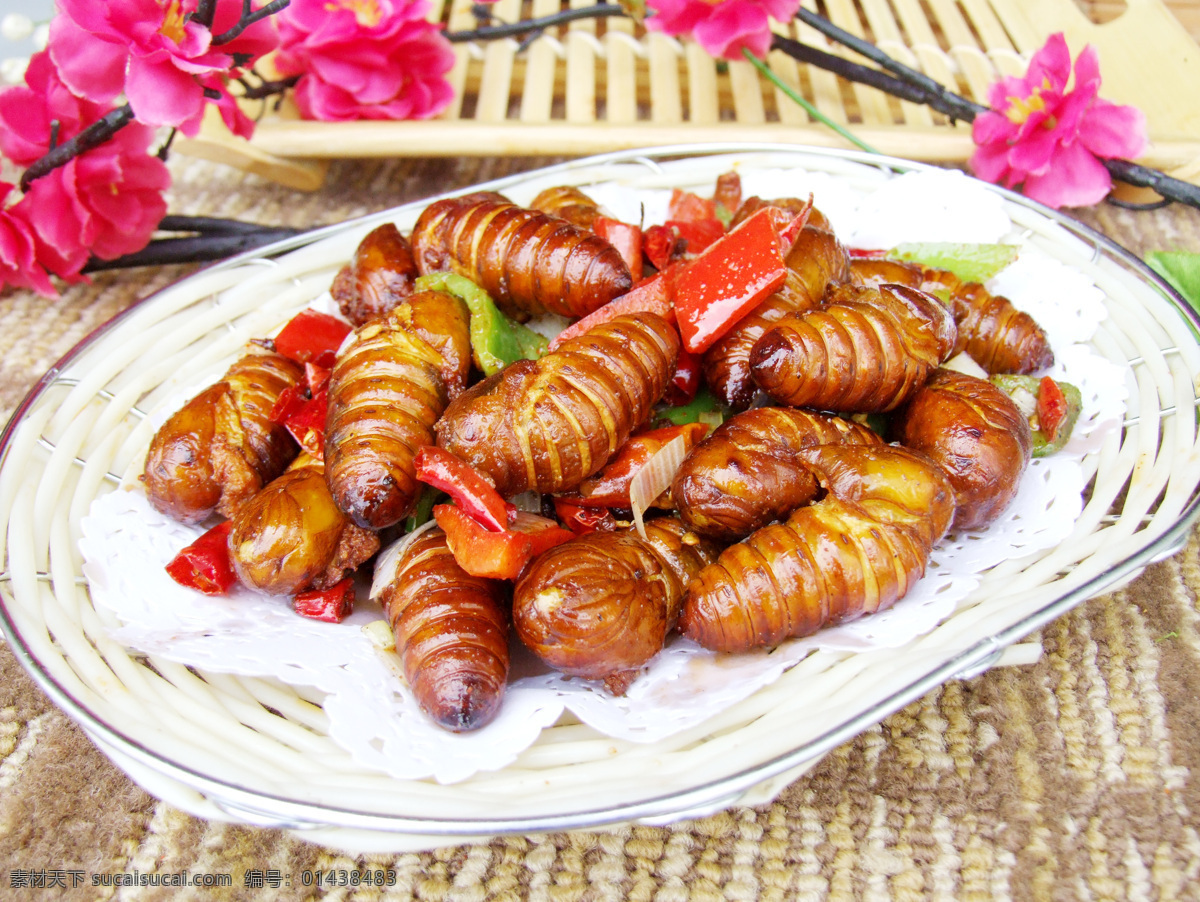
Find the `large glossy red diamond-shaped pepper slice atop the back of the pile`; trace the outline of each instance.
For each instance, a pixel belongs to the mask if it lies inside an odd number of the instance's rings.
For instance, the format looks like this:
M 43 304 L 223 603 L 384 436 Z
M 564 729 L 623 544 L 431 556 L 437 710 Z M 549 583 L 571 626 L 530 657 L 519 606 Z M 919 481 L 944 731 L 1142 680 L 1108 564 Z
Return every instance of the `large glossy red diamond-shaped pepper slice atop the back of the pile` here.
M 702 354 L 784 284 L 787 267 L 769 209 L 726 233 L 676 273 L 679 336 Z

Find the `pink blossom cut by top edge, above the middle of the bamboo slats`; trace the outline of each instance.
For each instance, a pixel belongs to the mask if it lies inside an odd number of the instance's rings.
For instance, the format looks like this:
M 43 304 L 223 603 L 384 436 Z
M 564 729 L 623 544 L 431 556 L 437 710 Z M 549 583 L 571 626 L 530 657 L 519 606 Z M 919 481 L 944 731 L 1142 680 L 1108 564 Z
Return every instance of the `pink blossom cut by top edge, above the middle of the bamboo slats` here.
M 745 48 L 762 59 L 770 49 L 770 20 L 790 22 L 799 0 L 647 0 L 646 26 L 691 36 L 709 55 L 739 60 Z

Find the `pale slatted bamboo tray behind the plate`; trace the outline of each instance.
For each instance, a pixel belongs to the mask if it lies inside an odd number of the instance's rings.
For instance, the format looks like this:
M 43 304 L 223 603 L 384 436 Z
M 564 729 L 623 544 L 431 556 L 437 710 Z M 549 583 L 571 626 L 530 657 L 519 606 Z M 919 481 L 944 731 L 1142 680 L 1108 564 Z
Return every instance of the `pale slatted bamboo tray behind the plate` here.
M 497 22 L 546 16 L 593 0 L 499 0 Z M 1100 54 L 1104 97 L 1146 114 L 1152 146 L 1141 160 L 1177 178 L 1200 178 L 1200 104 L 1181 85 L 1200 84 L 1200 47 L 1160 0 L 1128 0 L 1104 24 L 1075 0 L 805 0 L 847 31 L 866 37 L 980 103 L 998 77 L 1024 72 L 1048 35 L 1062 31 L 1078 53 Z M 475 28 L 472 0 L 434 0 L 431 17 L 450 31 Z M 1111 5 L 1109 5 L 1111 7 Z M 781 31 L 851 55 L 799 22 Z M 505 38 L 455 44 L 454 104 L 412 122 L 310 122 L 293 107 L 264 110 L 252 142 L 214 116 L 185 154 L 232 163 L 298 187 L 320 185 L 319 161 L 384 156 L 584 155 L 692 142 L 758 140 L 846 146 L 744 61 L 718 65 L 702 48 L 648 34 L 629 19 L 582 20 L 527 44 Z M 926 107 L 852 85 L 780 52 L 774 72 L 829 119 L 883 154 L 962 162 L 971 128 Z M 1174 90 L 1172 90 L 1174 86 Z

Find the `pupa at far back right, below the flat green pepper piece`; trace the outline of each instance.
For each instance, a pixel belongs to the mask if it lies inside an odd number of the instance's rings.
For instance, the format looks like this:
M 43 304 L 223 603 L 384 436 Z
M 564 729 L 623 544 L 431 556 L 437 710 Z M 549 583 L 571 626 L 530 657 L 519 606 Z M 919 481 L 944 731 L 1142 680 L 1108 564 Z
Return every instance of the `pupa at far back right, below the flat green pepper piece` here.
M 1054 349 L 1037 320 L 978 282 L 962 282 L 948 270 L 898 260 L 859 259 L 853 261 L 853 270 L 869 283 L 896 282 L 935 297 L 948 297 L 959 330 L 953 354 L 966 351 L 989 374 L 1028 374 L 1054 366 Z

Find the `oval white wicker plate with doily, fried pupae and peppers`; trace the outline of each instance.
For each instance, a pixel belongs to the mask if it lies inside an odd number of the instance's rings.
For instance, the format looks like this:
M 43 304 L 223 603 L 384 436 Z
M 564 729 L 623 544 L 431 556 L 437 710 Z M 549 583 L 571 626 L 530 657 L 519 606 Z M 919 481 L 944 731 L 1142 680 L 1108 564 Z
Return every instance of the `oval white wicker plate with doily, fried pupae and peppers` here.
M 205 817 L 402 849 L 763 801 L 1181 547 L 1198 335 L 959 172 L 575 161 L 85 339 L 2 437 L 4 627 Z

